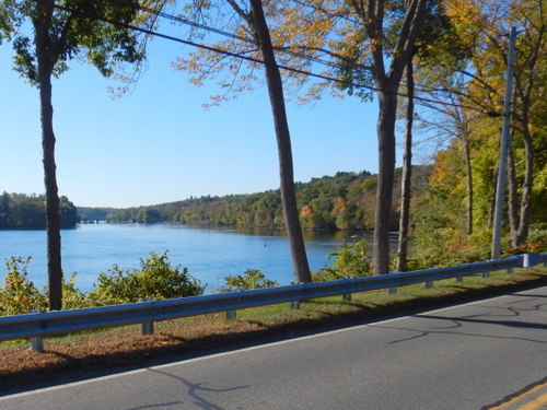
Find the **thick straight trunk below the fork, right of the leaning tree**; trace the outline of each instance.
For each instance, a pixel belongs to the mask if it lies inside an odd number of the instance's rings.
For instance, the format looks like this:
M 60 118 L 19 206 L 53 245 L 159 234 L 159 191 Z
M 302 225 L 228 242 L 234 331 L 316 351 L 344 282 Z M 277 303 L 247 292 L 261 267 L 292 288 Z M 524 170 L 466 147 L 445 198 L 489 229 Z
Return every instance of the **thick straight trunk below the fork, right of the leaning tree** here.
M 381 90 L 377 92 L 379 179 L 374 212 L 374 274 L 389 272 L 389 222 L 395 174 L 395 116 L 397 113 L 397 87 L 384 85 Z

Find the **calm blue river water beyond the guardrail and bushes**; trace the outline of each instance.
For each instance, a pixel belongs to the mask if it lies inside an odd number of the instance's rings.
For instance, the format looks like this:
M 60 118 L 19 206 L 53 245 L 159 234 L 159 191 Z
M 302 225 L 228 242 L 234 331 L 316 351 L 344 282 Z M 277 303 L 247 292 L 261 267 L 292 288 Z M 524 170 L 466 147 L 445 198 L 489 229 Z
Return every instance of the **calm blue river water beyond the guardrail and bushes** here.
M 327 255 L 348 241 L 349 232 L 304 232 L 310 268 L 327 265 Z M 281 284 L 293 280 L 287 237 L 279 230 L 200 229 L 171 224 L 89 224 L 63 230 L 62 267 L 69 277 L 78 272 L 77 285 L 85 292 L 95 278 L 118 265 L 139 267 L 139 258 L 150 251 L 168 249 L 173 265 L 187 267 L 189 273 L 212 292 L 223 278 L 259 269 Z M 32 256 L 28 277 L 39 289 L 47 282 L 46 232 L 0 231 L 0 280 L 5 277 L 5 260 L 11 256 Z

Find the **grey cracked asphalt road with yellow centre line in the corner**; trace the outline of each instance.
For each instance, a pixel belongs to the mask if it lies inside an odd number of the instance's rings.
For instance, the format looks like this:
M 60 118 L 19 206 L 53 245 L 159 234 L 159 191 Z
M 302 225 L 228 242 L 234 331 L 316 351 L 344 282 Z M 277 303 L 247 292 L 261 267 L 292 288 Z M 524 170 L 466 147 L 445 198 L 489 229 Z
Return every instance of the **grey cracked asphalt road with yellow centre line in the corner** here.
M 4 396 L 0 409 L 547 409 L 547 286 Z

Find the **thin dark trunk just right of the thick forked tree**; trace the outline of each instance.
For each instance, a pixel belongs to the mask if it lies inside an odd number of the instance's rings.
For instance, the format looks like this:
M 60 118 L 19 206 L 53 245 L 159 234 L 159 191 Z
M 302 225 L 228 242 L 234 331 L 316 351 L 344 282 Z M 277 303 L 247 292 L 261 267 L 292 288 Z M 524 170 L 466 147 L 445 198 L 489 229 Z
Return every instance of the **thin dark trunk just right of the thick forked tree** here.
M 414 72 L 412 59 L 407 65 L 408 105 L 406 115 L 405 153 L 403 155 L 403 179 L 400 192 L 399 241 L 397 271 L 406 272 L 408 258 L 408 224 L 410 221 L 411 178 L 412 178 L 412 124 L 414 124 Z

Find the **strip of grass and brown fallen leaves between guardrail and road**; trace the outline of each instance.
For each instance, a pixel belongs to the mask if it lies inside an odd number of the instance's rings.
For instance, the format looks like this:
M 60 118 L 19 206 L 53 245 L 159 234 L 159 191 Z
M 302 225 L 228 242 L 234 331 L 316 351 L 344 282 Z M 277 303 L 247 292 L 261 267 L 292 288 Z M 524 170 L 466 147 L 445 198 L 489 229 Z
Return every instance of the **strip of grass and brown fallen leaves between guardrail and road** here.
M 547 284 L 547 268 L 492 272 L 490 278 L 466 277 L 464 282 L 443 280 L 386 291 L 311 300 L 300 309 L 278 304 L 237 311 L 229 320 L 211 314 L 154 324 L 154 335 L 142 336 L 140 326 L 84 331 L 44 340 L 45 351 L 28 350 L 27 340 L 0 342 L 0 390 L 61 377 L 69 373 L 132 366 L 173 354 L 226 348 L 303 332 L 344 326 L 488 295 Z M 84 370 L 84 371 L 82 371 Z

